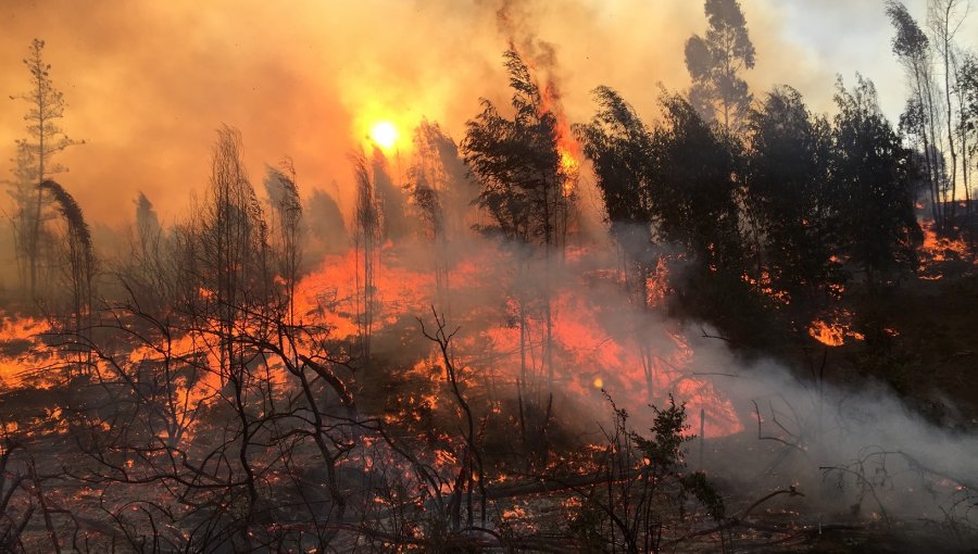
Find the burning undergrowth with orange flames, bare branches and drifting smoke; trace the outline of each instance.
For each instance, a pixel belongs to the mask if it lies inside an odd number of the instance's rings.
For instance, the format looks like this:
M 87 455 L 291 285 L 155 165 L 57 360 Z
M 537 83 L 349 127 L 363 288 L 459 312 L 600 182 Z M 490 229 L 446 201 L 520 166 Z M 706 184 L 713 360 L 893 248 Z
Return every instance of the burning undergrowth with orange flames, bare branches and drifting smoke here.
M 973 435 L 938 430 L 882 387 L 744 362 L 718 331 L 666 317 L 667 262 L 636 307 L 613 249 L 541 259 L 469 238 L 451 250 L 439 288 L 424 248 L 387 243 L 369 300 L 362 253 L 327 257 L 297 282 L 292 310 L 236 309 L 233 327 L 206 287 L 165 317 L 108 306 L 80 336 L 8 319 L 4 363 L 50 367 L 51 387 L 74 392 L 8 424 L 29 445 L 7 452 L 36 465 L 48 502 L 108 516 L 53 512 L 55 534 L 84 529 L 92 544 L 112 540 L 113 520 L 168 529 L 156 539 L 174 546 L 340 550 L 577 547 L 630 532 L 659 532 L 656 549 L 765 533 L 800 545 L 823 527 L 923 532 L 916 520 L 974 532 Z M 813 343 L 852 337 L 832 330 L 851 317 L 828 314 Z M 84 360 L 60 349 L 79 343 Z M 36 458 L 45 449 L 61 462 Z M 37 499 L 26 492 L 11 496 L 15 519 Z M 610 518 L 622 511 L 631 527 Z M 261 532 L 241 539 L 242 526 Z

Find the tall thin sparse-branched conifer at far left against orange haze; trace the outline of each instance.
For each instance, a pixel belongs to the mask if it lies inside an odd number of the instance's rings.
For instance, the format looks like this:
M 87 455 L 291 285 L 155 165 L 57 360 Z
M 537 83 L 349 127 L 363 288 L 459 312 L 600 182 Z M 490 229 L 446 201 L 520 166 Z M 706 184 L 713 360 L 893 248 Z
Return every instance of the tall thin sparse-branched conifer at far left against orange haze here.
M 36 189 L 32 196 L 33 198 L 29 200 L 29 205 L 18 206 L 17 214 L 22 219 L 16 227 L 21 229 L 21 232 L 26 234 L 26 238 L 18 240 L 17 243 L 23 245 L 23 257 L 26 257 L 29 267 L 27 272 L 29 279 L 28 290 L 32 297 L 35 297 L 37 293 L 38 259 L 40 255 L 41 216 L 45 199 L 40 185 L 51 175 L 65 171 L 63 166 L 54 163 L 52 158 L 65 148 L 79 143 L 68 138 L 58 125 L 58 121 L 64 116 L 64 96 L 54 88 L 51 81 L 51 76 L 49 75 L 51 64 L 45 62 L 43 49 L 45 41 L 34 39 L 29 54 L 24 59 L 24 65 L 27 66 L 27 71 L 30 73 L 30 90 L 11 97 L 24 100 L 30 105 L 24 115 L 30 138 L 18 140 L 17 148 L 18 151 L 23 151 L 26 154 L 18 158 L 18 160 L 23 160 L 28 164 L 27 167 L 21 171 L 33 174 L 32 181 L 35 184 Z M 26 201 L 27 199 L 22 197 L 20 200 Z

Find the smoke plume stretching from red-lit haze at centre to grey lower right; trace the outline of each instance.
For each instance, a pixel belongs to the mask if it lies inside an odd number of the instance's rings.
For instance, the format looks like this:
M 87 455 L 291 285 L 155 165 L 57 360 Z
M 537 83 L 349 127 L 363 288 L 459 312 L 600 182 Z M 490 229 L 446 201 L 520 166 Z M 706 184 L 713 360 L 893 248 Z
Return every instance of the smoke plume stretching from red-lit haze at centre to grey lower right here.
M 537 249 L 455 234 L 444 254 L 452 261 L 450 290 L 436 297 L 435 249 L 421 238 L 419 221 L 409 225 L 414 232 L 388 245 L 376 268 L 376 320 L 385 322 L 373 338 L 374 352 L 383 356 L 377 367 L 415 375 L 414 368 L 437 364 L 434 358 L 426 362 L 430 344 L 419 339 L 414 319 L 430 323 L 434 304 L 448 317 L 450 328 L 460 328 L 453 352 L 472 394 L 481 398 L 484 389 L 491 390 L 501 405 L 513 406 L 516 380 L 523 379 L 524 400 L 531 396 L 527 391 L 535 381 L 544 398 L 538 402 L 546 403 L 547 387 L 541 385 L 547 381 L 541 300 L 546 294 L 553 315 L 553 414 L 563 432 L 601 444 L 599 425 L 607 428 L 612 415 L 606 391 L 628 411 L 632 428 L 648 433 L 654 415 L 648 404 L 663 406 L 672 394 L 686 403 L 690 432 L 704 431 L 702 457 L 700 443 L 693 441 L 687 459 L 717 481 L 730 502 L 730 515 L 739 515 L 774 490 L 794 487 L 804 496 L 779 496 L 764 509 L 793 511 L 812 525 L 976 524 L 969 509 L 978 486 L 973 475 L 978 437 L 954 427 L 960 418 L 946 399 L 931 399 L 943 403 L 949 414 L 948 419 L 933 421 L 885 385 L 847 385 L 838 379 L 832 385 L 820 379 L 820 352 L 813 356 L 815 378 L 803 375 L 807 372 L 803 367 L 745 360 L 715 338 L 717 331 L 676 322 L 661 303 L 649 311 L 634 306 L 618 280 L 618 253 L 609 243 L 570 249 L 548 260 Z M 664 245 L 656 255 L 669 260 L 678 273 L 678 252 Z M 306 290 L 319 293 L 322 284 L 328 284 L 336 288 L 334 298 L 352 298 L 351 263 L 348 253 L 327 257 L 309 277 Z M 661 278 L 670 279 L 667 275 Z M 657 287 L 663 285 L 656 281 Z M 528 299 L 530 385 L 522 375 L 518 354 L 514 299 L 519 297 Z M 342 304 L 338 312 L 350 320 L 355 317 Z M 651 353 L 649 374 L 642 348 Z M 841 354 L 828 352 L 826 373 L 838 374 L 840 358 Z M 432 375 L 438 394 L 438 370 Z M 553 432 L 556 436 L 557 430 Z

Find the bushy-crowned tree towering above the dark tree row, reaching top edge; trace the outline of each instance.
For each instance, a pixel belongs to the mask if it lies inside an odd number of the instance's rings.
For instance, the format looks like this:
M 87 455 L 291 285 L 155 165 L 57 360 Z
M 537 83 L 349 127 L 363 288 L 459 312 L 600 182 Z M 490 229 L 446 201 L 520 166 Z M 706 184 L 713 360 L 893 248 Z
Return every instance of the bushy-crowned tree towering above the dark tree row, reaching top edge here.
M 704 11 L 706 36 L 686 41 L 689 99 L 706 121 L 718 119 L 728 133 L 738 131 L 751 103 L 740 72 L 754 67 L 754 45 L 738 0 L 706 0 Z

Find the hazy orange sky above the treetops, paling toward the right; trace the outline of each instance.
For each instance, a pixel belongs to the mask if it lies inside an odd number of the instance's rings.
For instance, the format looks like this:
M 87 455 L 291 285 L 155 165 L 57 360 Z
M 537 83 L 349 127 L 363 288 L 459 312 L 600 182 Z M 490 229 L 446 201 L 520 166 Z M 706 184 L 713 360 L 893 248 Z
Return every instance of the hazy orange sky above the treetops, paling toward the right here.
M 511 1 L 506 28 L 496 17 L 502 3 L 7 0 L 0 171 L 8 174 L 13 141 L 25 136 L 27 105 L 7 97 L 27 90 L 21 60 L 35 37 L 47 41 L 68 103 L 63 127 L 87 141 L 60 156 L 71 171 L 58 180 L 90 223 L 117 225 L 130 218 L 139 190 L 164 219 L 176 219 L 206 182 L 223 123 L 241 129 L 255 185 L 263 164 L 288 154 L 300 188 L 338 192 L 347 204 L 347 153 L 377 119 L 400 127 L 406 164 L 409 127 L 423 116 L 457 140 L 479 97 L 505 101 L 501 52 L 510 38 L 538 51 L 553 46 L 551 76 L 572 122 L 590 116 L 598 85 L 652 118 L 657 84 L 687 86 L 682 45 L 705 29 L 698 0 Z M 851 83 L 861 71 L 877 83 L 885 110 L 899 113 L 904 89 L 881 1 L 741 3 L 757 48 L 747 75 L 755 91 L 787 83 L 829 110 L 836 74 Z M 907 4 L 923 18 L 924 0 Z

